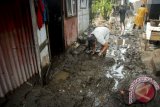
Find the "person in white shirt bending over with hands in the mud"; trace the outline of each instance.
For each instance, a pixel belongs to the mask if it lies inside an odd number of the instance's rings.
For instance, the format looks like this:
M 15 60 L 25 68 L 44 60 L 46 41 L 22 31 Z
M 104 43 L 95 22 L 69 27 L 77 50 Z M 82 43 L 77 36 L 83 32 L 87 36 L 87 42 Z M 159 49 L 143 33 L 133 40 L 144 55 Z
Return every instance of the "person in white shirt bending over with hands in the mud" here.
M 98 56 L 106 55 L 106 51 L 109 47 L 110 30 L 107 27 L 96 27 L 93 32 L 88 36 L 88 47 L 92 50 L 92 54 L 96 52 L 97 42 L 101 44 L 100 52 Z

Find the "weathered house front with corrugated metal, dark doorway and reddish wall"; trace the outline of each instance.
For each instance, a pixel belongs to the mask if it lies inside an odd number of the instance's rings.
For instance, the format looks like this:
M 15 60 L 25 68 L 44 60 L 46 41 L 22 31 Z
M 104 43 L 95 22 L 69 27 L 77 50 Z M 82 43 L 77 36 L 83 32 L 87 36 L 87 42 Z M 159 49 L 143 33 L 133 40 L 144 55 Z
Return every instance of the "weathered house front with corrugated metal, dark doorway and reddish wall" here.
M 53 57 L 63 53 L 77 40 L 78 2 L 0 2 L 0 11 L 4 13 L 0 15 L 0 97 L 18 88 L 35 74 L 43 78 L 43 70 L 50 65 Z M 45 20 L 44 12 L 47 13 Z M 83 26 L 87 28 L 87 25 Z

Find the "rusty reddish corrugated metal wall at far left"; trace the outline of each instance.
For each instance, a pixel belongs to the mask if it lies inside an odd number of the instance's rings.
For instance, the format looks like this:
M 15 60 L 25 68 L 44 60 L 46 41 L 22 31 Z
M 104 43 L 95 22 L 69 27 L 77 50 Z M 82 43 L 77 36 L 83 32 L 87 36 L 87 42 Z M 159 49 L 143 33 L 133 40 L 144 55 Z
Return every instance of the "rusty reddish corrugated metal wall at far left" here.
M 37 70 L 28 0 L 0 1 L 0 97 Z

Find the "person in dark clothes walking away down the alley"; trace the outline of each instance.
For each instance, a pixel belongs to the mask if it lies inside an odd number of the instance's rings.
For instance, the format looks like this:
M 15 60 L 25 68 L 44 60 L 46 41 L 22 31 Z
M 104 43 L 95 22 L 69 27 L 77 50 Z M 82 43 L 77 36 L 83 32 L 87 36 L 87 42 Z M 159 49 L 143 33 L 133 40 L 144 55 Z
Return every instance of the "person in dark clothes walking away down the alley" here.
M 121 35 L 122 35 L 125 30 L 125 17 L 126 17 L 126 9 L 124 6 L 120 6 L 119 15 L 120 15 L 120 26 L 121 26 Z M 128 16 L 128 14 L 127 14 L 127 16 Z M 128 16 L 128 18 L 129 18 L 129 16 Z

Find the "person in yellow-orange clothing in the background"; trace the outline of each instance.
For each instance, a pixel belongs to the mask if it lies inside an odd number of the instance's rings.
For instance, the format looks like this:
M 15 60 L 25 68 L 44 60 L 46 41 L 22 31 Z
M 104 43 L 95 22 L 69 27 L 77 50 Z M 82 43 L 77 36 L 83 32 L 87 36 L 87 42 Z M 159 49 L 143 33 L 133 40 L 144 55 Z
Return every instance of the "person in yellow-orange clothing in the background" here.
M 136 14 L 135 19 L 134 19 L 133 29 L 135 29 L 136 26 L 138 27 L 138 29 L 141 29 L 143 27 L 144 18 L 145 18 L 147 13 L 148 13 L 148 10 L 147 10 L 147 8 L 145 7 L 144 4 L 141 5 L 140 8 L 138 8 L 137 14 Z

